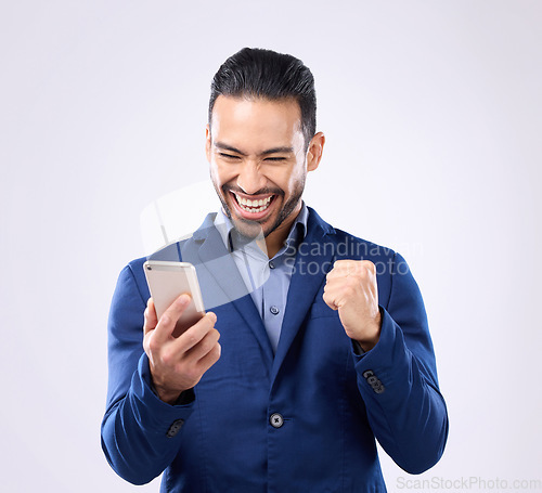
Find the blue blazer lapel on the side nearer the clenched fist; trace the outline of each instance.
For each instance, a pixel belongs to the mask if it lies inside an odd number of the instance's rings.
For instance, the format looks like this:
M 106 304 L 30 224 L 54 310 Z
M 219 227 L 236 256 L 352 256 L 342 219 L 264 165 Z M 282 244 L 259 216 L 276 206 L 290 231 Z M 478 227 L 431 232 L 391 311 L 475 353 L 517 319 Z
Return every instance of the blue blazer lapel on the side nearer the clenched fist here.
M 307 235 L 298 247 L 294 272 L 286 300 L 286 311 L 282 323 L 281 338 L 271 371 L 275 379 L 286 354 L 307 316 L 324 277 L 333 267 L 335 245 L 333 239 L 325 243 L 325 236 L 335 230 L 324 222 L 309 207 Z

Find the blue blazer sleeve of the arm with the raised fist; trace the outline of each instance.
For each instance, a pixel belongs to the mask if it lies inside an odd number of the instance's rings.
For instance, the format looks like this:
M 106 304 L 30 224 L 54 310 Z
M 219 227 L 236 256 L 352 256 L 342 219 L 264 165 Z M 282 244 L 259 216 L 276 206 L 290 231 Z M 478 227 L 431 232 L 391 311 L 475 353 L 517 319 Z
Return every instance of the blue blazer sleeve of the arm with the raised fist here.
M 442 455 L 448 413 L 422 295 L 399 254 L 390 275 L 388 302 L 380 307 L 380 338 L 372 350 L 352 354 L 376 439 L 402 469 L 421 473 Z

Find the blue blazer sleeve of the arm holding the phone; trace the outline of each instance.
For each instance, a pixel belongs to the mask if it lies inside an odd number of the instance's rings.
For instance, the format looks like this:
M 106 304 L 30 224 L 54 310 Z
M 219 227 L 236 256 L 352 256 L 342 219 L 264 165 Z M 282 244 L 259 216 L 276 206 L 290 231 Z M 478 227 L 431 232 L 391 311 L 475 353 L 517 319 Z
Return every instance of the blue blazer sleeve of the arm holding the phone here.
M 133 484 L 150 482 L 172 462 L 194 401 L 193 391 L 183 392 L 179 405 L 170 405 L 153 391 L 143 351 L 144 289 L 146 286 L 139 287 L 132 265 L 126 267 L 109 311 L 109 377 L 102 421 L 105 457 L 121 478 Z

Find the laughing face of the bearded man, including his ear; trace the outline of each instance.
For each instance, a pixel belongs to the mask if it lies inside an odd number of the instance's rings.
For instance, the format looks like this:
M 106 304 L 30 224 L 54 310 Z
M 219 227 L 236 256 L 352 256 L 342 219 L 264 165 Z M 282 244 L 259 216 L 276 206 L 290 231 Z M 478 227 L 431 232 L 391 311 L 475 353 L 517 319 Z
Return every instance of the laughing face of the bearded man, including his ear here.
M 301 209 L 307 171 L 318 167 L 323 135 L 306 153 L 300 118 L 294 100 L 219 95 L 215 102 L 206 134 L 210 177 L 224 212 L 245 236 L 287 233 Z

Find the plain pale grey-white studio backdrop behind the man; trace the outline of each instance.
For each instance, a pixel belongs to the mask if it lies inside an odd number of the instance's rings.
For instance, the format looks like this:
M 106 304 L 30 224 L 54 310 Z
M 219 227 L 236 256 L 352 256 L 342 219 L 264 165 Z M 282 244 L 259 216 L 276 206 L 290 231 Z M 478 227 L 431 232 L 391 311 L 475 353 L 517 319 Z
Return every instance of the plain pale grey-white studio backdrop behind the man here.
M 382 453 L 389 491 L 541 480 L 541 22 L 522 0 L 4 0 L 2 491 L 158 490 L 101 451 L 107 312 L 142 210 L 208 180 L 210 79 L 245 46 L 314 74 L 308 205 L 400 251 L 424 294 L 450 437 L 420 477 Z

